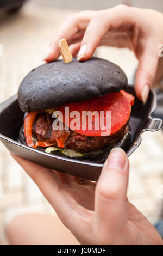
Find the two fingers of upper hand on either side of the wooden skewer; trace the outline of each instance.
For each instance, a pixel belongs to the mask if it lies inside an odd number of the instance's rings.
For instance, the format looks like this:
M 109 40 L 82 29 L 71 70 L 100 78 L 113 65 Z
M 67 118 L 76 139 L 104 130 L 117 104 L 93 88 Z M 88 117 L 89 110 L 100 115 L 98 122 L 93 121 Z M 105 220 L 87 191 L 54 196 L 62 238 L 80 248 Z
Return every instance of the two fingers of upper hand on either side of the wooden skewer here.
M 117 19 L 118 17 L 118 19 Z M 72 14 L 61 25 L 57 35 L 48 47 L 43 60 L 51 62 L 59 57 L 58 41 L 66 38 L 68 45 L 79 31 L 85 31 L 82 45 L 78 53 L 78 60 L 92 57 L 100 40 L 108 31 L 126 32 L 134 24 L 134 15 L 126 5 L 117 5 L 114 8 L 102 11 L 82 11 Z M 81 38 L 81 37 L 80 37 Z M 79 40 L 79 38 L 78 38 Z

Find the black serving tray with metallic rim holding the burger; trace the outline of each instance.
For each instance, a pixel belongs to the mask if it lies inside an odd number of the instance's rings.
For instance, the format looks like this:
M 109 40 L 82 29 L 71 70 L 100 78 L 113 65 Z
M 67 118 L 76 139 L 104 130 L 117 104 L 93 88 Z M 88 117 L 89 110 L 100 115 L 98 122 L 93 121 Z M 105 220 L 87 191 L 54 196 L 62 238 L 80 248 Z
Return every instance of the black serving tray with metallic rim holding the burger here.
M 133 86 L 129 86 L 127 92 L 135 96 L 135 104 L 131 109 L 129 121 L 132 136 L 132 143 L 126 151 L 129 156 L 139 147 L 141 133 L 144 131 L 158 131 L 162 120 L 151 117 L 151 113 L 156 109 L 156 94 L 153 90 L 149 92 L 146 105 L 143 105 L 137 99 Z M 19 143 L 18 132 L 23 123 L 23 116 L 24 113 L 18 106 L 17 95 L 12 96 L 0 105 L 0 139 L 10 152 L 60 172 L 83 179 L 98 180 L 103 164 L 78 161 L 64 156 L 48 154 Z

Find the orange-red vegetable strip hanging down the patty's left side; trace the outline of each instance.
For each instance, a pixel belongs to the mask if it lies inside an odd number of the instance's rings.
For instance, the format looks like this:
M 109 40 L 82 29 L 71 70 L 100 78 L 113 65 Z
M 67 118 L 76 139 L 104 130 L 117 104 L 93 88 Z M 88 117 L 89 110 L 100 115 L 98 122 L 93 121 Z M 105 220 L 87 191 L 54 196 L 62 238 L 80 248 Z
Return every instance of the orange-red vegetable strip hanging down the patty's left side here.
M 24 136 L 26 138 L 27 145 L 32 148 L 35 147 L 32 138 L 32 126 L 38 113 L 39 111 L 30 112 L 24 119 Z

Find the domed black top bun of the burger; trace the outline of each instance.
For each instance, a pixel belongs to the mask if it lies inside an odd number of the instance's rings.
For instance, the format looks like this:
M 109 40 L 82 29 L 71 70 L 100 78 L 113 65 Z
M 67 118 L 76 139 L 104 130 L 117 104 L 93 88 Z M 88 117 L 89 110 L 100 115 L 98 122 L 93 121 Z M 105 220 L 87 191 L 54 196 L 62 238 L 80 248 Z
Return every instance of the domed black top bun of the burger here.
M 45 110 L 84 101 L 127 87 L 122 69 L 108 60 L 92 57 L 85 62 L 73 59 L 43 64 L 24 77 L 18 89 L 23 112 Z

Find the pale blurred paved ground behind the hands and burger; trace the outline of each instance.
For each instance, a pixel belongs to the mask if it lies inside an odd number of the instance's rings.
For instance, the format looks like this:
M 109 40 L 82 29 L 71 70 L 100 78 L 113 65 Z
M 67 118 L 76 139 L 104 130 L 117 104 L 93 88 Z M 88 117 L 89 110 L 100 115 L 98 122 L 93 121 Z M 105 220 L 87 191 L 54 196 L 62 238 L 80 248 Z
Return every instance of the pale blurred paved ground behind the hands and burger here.
M 84 2 L 89 1 L 82 1 L 83 5 Z M 161 3 L 161 1 L 156 2 Z M 69 10 L 52 6 L 49 8 L 47 4 L 43 6 L 38 5 L 36 1 L 31 1 L 17 16 L 1 15 L 0 44 L 3 45 L 3 57 L 0 57 L 0 102 L 15 94 L 27 72 L 41 64 L 43 52 L 61 22 L 71 13 L 71 7 L 68 7 Z M 133 53 L 126 49 L 102 47 L 97 51 L 97 55 L 119 64 L 131 81 L 137 65 Z M 142 136 L 141 146 L 129 158 L 128 197 L 149 220 L 153 219 L 155 209 L 161 201 L 162 152 L 162 131 L 146 132 Z M 22 212 L 47 213 L 53 210 L 35 184 L 11 159 L 2 144 L 0 144 L 0 168 L 0 185 L 4 188 L 4 197 L 0 199 L 0 243 L 5 244 L 7 240 L 4 229 L 11 218 Z

